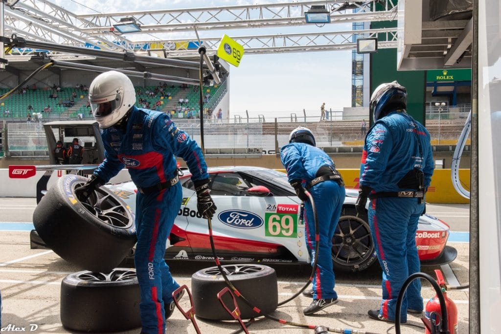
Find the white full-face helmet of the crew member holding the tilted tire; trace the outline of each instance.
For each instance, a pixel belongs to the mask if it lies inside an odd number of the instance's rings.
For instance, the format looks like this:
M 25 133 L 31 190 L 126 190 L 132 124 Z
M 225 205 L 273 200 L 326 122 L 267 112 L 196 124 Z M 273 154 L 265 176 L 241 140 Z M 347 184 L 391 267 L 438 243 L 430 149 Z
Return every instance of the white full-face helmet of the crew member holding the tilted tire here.
M 136 103 L 132 81 L 123 73 L 108 71 L 98 75 L 89 87 L 92 116 L 106 129 L 120 121 Z

